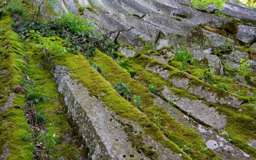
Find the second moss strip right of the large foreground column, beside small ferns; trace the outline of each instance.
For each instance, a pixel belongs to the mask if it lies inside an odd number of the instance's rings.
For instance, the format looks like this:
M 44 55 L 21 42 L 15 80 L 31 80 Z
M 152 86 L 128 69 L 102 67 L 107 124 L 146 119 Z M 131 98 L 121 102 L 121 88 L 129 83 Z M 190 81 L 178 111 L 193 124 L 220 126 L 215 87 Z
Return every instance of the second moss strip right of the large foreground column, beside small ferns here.
M 105 79 L 112 84 L 116 84 L 120 81 L 126 83 L 132 90 L 133 95 L 139 95 L 142 100 L 142 112 L 147 115 L 147 117 L 154 122 L 155 118 L 153 116 L 154 111 L 160 111 L 157 116 L 157 121 L 161 124 L 160 128 L 168 132 L 168 138 L 180 148 L 184 145 L 188 145 L 194 148 L 194 152 L 191 153 L 191 157 L 197 157 L 198 153 L 196 151 L 197 147 L 202 145 L 205 146 L 205 142 L 201 140 L 200 136 L 188 127 L 182 126 L 180 123 L 176 122 L 175 118 L 172 118 L 167 112 L 160 106 L 154 105 L 154 94 L 149 93 L 148 88 L 144 87 L 140 82 L 127 76 L 125 71 L 118 66 L 118 64 L 111 58 L 100 52 L 96 52 L 95 57 L 92 58 L 105 72 Z M 132 65 L 133 66 L 133 65 Z M 133 68 L 134 69 L 134 68 Z M 137 69 L 134 69 L 137 70 Z M 156 76 L 157 77 L 157 76 Z M 151 79 L 151 78 L 150 78 Z M 152 81 L 152 79 L 151 79 Z M 157 85 L 158 85 L 158 81 Z M 167 82 L 167 86 L 169 83 Z M 186 91 L 180 89 L 175 90 L 175 94 L 186 94 Z M 132 97 L 132 96 L 131 96 Z M 209 156 L 211 155 L 211 156 Z M 202 159 L 211 159 L 215 157 L 213 151 L 210 151 L 207 156 Z

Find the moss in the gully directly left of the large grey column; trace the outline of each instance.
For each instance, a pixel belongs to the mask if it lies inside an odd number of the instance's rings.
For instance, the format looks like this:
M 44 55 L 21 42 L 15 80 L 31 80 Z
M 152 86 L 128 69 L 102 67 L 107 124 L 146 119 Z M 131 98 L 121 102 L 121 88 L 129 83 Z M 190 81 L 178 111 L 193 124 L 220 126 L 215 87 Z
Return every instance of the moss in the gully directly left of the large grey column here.
M 44 111 L 46 115 L 46 128 L 53 127 L 54 133 L 58 136 L 56 139 L 56 147 L 54 149 L 54 159 L 58 157 L 65 157 L 66 159 L 77 160 L 79 157 L 86 155 L 88 149 L 81 147 L 83 145 L 79 137 L 76 136 L 76 132 L 73 132 L 73 123 L 67 116 L 67 106 L 64 102 L 64 97 L 57 92 L 57 85 L 52 80 L 51 67 L 45 65 L 44 54 L 38 48 L 31 48 L 34 44 L 27 44 L 27 52 L 25 53 L 29 57 L 29 68 L 25 71 L 25 74 L 30 74 L 29 77 L 35 84 L 35 90 L 45 88 L 46 97 L 49 100 L 46 103 L 39 103 L 38 111 Z M 74 54 L 72 54 L 74 55 Z M 79 55 L 79 54 L 75 54 Z M 42 81 L 41 81 L 42 79 Z M 69 143 L 63 143 L 66 139 L 65 136 L 69 136 L 71 141 Z

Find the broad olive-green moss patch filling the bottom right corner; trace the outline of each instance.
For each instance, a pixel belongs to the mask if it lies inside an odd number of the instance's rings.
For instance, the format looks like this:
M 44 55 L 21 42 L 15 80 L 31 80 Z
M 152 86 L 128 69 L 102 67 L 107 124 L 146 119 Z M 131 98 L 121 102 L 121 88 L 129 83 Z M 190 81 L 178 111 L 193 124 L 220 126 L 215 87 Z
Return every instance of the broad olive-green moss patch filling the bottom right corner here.
M 256 139 L 255 110 L 250 103 L 241 105 L 242 112 L 239 108 L 230 107 L 229 105 L 214 104 L 206 102 L 207 105 L 215 107 L 219 113 L 226 115 L 227 124 L 225 131 L 233 140 L 232 144 L 245 151 L 252 157 L 256 157 L 256 150 L 248 145 L 249 140 Z

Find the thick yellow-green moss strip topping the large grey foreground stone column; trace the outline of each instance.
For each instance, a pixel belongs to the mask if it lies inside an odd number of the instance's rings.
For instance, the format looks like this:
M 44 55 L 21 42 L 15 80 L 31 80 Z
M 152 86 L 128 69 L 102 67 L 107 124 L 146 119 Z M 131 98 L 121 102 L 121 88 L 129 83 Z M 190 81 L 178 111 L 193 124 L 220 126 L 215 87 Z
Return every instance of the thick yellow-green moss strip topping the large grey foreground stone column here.
M 121 97 L 111 86 L 110 83 L 92 67 L 82 55 L 64 54 L 51 57 L 54 66 L 67 66 L 72 79 L 77 79 L 82 86 L 86 87 L 90 96 L 99 97 L 99 100 L 121 118 L 137 122 L 138 125 L 151 135 L 153 139 L 160 142 L 165 148 L 171 149 L 174 153 L 180 153 L 183 159 L 190 159 L 179 146 L 167 139 L 162 131 L 136 107 Z

